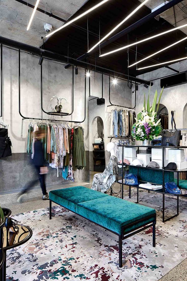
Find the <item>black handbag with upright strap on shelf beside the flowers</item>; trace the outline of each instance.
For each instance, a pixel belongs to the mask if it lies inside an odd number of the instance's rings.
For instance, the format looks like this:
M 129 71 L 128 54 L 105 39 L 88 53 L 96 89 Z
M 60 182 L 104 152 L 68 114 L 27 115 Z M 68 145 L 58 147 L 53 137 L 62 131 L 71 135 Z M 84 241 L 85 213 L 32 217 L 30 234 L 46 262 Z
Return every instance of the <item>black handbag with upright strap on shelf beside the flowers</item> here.
M 180 146 L 180 138 L 181 138 L 181 131 L 176 129 L 176 124 L 174 120 L 174 111 L 171 112 L 171 125 L 173 130 L 173 123 L 174 123 L 174 131 L 163 131 L 162 135 L 162 146 L 167 146 L 169 143 L 170 146 Z

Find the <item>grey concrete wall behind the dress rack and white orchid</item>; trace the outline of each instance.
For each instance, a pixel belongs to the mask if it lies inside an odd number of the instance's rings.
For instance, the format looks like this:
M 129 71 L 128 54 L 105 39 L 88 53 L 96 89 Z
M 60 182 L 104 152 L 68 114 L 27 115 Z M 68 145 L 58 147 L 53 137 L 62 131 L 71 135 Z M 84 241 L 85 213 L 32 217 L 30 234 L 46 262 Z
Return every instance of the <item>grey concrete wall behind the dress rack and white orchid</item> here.
M 40 107 L 40 65 L 38 58 L 21 53 L 21 113 L 24 116 L 50 119 Z M 65 112 L 72 107 L 72 69 L 48 60 L 43 61 L 43 108 L 54 111 L 56 102 L 50 101 L 53 95 L 64 96 L 68 102 L 63 104 Z M 74 112 L 71 116 L 53 119 L 82 121 L 84 119 L 84 69 L 74 76 Z M 87 78 L 88 82 L 88 78 Z M 87 83 L 88 87 L 88 83 Z M 3 48 L 3 120 L 9 124 L 8 133 L 12 142 L 13 155 L 0 159 L 0 192 L 11 192 L 22 189 L 27 180 L 33 178 L 29 164 L 30 156 L 26 153 L 27 130 L 29 120 L 22 120 L 18 104 L 18 51 Z M 70 123 L 73 126 L 73 123 Z M 88 88 L 86 102 L 86 120 L 84 127 L 87 167 L 75 172 L 75 181 L 89 180 L 89 135 L 88 135 Z M 27 180 L 26 180 L 27 179 Z M 50 168 L 46 179 L 47 185 L 67 183 L 61 173 L 57 178 L 56 169 Z

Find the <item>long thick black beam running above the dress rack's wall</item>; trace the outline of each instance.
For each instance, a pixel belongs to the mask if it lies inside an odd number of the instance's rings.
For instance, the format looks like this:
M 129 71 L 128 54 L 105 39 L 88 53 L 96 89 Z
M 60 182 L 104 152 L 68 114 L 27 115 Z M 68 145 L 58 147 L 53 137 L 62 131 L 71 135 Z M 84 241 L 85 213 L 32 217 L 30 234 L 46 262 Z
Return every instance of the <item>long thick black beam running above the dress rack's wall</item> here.
M 113 76 L 120 75 L 120 76 L 124 77 L 123 78 L 124 80 L 128 79 L 127 74 L 124 74 L 124 73 L 121 73 L 121 72 L 116 72 L 116 71 L 113 71 L 111 69 L 107 69 L 107 68 L 104 68 L 104 67 L 101 67 L 101 66 L 95 66 L 95 65 L 90 64 L 88 62 L 82 62 L 82 61 L 79 61 L 75 58 L 70 58 L 68 56 L 64 56 L 64 55 L 61 55 L 61 54 L 58 54 L 58 53 L 47 51 L 45 49 L 40 49 L 39 47 L 34 47 L 34 46 L 30 46 L 30 45 L 27 45 L 27 44 L 24 44 L 24 43 L 20 43 L 20 42 L 17 42 L 17 41 L 14 41 L 14 40 L 2 37 L 2 36 L 0 36 L 0 44 L 9 46 L 9 47 L 12 47 L 12 48 L 15 48 L 15 49 L 20 49 L 20 50 L 29 52 L 29 53 L 31 53 L 33 55 L 37 55 L 37 56 L 41 56 L 41 53 L 42 53 L 43 58 L 49 58 L 51 60 L 55 60 L 57 62 L 63 62 L 63 63 L 69 62 L 71 65 L 77 65 L 79 67 L 87 68 L 87 69 L 90 69 L 90 70 L 93 70 L 93 71 L 96 71 L 96 72 L 100 72 L 100 73 L 103 73 L 103 74 L 106 74 L 106 75 L 111 75 L 111 76 L 112 75 Z M 149 81 L 139 79 L 139 78 L 136 78 L 134 76 L 129 76 L 129 79 L 131 81 L 134 81 L 134 82 L 137 82 L 137 83 L 140 83 L 140 84 L 150 85 Z M 153 82 L 151 82 L 151 86 L 152 85 L 153 85 Z

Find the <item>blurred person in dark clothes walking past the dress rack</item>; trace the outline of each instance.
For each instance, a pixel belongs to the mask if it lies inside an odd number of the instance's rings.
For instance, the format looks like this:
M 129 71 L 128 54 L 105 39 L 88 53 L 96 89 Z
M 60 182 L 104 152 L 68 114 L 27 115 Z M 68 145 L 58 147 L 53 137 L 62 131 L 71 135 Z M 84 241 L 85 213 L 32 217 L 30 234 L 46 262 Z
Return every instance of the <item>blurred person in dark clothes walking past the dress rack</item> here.
M 45 167 L 45 160 L 43 155 L 43 147 L 40 142 L 41 139 L 45 137 L 45 131 L 40 129 L 34 132 L 33 137 L 33 159 L 31 160 L 31 164 L 35 168 L 35 173 L 37 175 L 37 179 L 32 180 L 31 182 L 27 183 L 23 191 L 20 192 L 19 197 L 17 199 L 18 202 L 22 201 L 22 196 L 27 191 L 31 190 L 38 180 L 40 181 L 41 190 L 43 193 L 42 199 L 49 200 L 49 195 L 46 191 L 45 186 L 45 174 L 47 173 L 47 167 Z

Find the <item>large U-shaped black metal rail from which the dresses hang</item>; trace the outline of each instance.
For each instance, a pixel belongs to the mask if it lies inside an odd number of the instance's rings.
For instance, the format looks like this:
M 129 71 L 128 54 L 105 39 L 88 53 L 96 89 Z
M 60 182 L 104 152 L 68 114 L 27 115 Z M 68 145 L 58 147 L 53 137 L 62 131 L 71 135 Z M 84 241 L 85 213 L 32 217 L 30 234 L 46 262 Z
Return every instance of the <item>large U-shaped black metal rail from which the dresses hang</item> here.
M 86 69 L 85 69 L 85 79 L 84 79 L 84 119 L 82 121 L 73 121 L 73 120 L 56 120 L 56 119 L 46 119 L 46 118 L 36 118 L 36 117 L 25 117 L 21 114 L 21 106 L 20 106 L 20 49 L 19 49 L 19 114 L 25 119 L 37 119 L 37 120 L 46 120 L 46 121 L 67 121 L 67 122 L 72 122 L 72 123 L 83 123 L 86 119 Z

